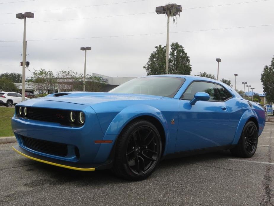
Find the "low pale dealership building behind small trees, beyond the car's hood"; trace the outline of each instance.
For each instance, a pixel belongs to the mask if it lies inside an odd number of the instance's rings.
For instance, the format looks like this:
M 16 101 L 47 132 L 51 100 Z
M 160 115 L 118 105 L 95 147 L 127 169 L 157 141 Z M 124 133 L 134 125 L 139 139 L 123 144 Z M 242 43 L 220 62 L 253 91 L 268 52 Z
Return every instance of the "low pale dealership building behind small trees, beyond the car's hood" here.
M 132 80 L 136 77 L 109 77 L 106 75 L 101 75 L 101 74 L 97 74 L 97 73 L 92 73 L 93 77 L 102 77 L 102 81 L 105 83 L 105 85 L 102 88 L 103 92 L 108 92 L 110 90 L 112 90 L 113 88 L 129 81 Z M 57 82 L 69 82 L 68 80 L 62 80 L 62 79 L 58 79 Z M 15 83 L 16 87 L 22 91 L 22 83 Z M 35 90 L 35 83 L 25 83 L 25 91 L 26 92 L 31 92 L 33 94 L 39 94 L 39 91 Z M 48 90 L 47 94 L 50 94 L 54 91 L 54 93 L 57 92 L 61 92 L 61 89 L 58 88 L 58 83 L 56 84 L 54 89 Z

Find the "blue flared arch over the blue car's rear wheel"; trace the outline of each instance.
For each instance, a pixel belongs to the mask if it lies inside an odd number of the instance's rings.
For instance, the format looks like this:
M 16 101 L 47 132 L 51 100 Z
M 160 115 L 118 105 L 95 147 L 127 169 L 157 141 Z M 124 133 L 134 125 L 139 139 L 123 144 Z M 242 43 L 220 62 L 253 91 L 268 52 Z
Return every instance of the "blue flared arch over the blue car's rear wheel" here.
M 239 123 L 238 123 L 238 127 L 236 129 L 235 135 L 234 135 L 234 139 L 232 142 L 232 145 L 236 145 L 238 144 L 238 141 L 241 137 L 242 131 L 243 131 L 243 127 L 245 126 L 246 122 L 251 118 L 254 117 L 257 121 L 258 121 L 258 115 L 256 114 L 256 112 L 254 112 L 254 110 L 246 110 Z M 259 121 L 258 121 L 259 122 Z M 259 131 L 258 131 L 259 132 Z

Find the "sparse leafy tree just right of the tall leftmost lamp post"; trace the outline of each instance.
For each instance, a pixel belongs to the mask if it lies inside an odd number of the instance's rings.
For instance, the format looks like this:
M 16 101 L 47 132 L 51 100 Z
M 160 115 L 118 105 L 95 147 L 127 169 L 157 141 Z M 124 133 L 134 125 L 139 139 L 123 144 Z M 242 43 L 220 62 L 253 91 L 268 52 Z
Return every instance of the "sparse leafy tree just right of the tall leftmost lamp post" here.
M 34 90 L 39 94 L 47 93 L 47 91 L 54 90 L 56 86 L 55 75 L 50 70 L 39 69 L 34 70 L 28 82 L 32 82 Z

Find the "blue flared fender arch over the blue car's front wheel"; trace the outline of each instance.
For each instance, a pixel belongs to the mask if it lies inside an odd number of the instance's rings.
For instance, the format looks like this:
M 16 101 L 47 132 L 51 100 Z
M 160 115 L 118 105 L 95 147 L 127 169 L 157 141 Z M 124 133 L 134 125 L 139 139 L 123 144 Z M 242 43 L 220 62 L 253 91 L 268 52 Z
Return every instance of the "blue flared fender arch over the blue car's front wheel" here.
M 117 135 L 121 133 L 122 129 L 133 119 L 140 116 L 151 116 L 156 118 L 163 126 L 165 135 L 166 135 L 166 147 L 169 142 L 169 132 L 168 132 L 168 123 L 166 121 L 163 113 L 156 109 L 155 107 L 146 105 L 146 104 L 135 104 L 129 107 L 124 108 L 119 112 L 116 117 L 112 120 L 105 134 L 107 135 Z

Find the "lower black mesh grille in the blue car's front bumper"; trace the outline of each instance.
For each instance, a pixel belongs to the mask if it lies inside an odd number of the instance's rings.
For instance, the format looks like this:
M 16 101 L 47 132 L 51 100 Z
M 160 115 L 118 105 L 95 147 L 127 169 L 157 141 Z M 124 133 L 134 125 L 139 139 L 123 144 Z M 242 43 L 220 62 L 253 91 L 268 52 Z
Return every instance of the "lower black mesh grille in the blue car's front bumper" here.
M 24 136 L 21 136 L 21 138 L 23 140 L 23 145 L 32 150 L 62 157 L 65 157 L 68 154 L 68 147 L 66 144 L 38 140 Z

